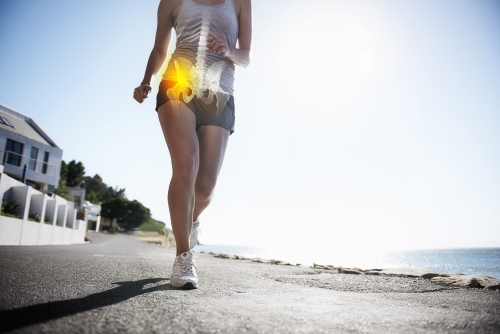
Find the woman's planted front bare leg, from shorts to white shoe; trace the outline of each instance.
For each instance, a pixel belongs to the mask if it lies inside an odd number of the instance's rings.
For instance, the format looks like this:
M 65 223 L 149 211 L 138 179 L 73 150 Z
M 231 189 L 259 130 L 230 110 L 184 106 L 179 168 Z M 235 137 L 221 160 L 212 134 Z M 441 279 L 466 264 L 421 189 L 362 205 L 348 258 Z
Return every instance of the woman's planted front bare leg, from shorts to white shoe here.
M 168 188 L 168 207 L 177 255 L 188 252 L 193 223 L 194 186 L 199 167 L 199 142 L 196 118 L 179 101 L 158 108 L 158 118 L 172 160 L 172 179 Z

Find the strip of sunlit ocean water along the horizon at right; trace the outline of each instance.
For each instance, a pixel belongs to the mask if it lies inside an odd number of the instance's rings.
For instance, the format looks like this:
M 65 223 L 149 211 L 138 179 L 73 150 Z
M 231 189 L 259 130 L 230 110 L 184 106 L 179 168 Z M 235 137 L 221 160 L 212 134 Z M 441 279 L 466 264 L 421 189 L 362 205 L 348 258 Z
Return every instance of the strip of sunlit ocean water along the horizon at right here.
M 340 249 L 298 252 L 297 249 L 271 249 L 253 246 L 198 245 L 196 251 L 226 253 L 262 259 L 283 260 L 310 266 L 314 263 L 361 269 L 426 267 L 439 273 L 483 274 L 500 279 L 500 248 L 457 248 L 420 250 Z

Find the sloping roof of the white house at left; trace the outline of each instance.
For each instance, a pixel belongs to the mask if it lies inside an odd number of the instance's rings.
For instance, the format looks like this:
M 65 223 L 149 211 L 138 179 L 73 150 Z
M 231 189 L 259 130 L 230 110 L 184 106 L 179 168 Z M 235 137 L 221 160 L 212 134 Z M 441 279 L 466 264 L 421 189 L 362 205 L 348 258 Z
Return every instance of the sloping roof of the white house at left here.
M 42 128 L 29 116 L 0 103 L 0 116 L 6 118 L 12 125 L 0 122 L 0 128 L 17 133 L 26 138 L 35 140 L 45 145 L 60 147 L 42 130 Z

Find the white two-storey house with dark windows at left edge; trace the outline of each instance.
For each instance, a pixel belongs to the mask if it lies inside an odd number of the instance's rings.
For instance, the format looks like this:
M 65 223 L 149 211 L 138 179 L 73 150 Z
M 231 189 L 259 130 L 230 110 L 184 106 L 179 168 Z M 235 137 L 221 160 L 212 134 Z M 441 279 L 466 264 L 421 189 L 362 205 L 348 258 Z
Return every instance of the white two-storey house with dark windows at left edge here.
M 0 104 L 0 159 L 4 173 L 26 184 L 53 192 L 59 184 L 62 149 L 29 116 Z

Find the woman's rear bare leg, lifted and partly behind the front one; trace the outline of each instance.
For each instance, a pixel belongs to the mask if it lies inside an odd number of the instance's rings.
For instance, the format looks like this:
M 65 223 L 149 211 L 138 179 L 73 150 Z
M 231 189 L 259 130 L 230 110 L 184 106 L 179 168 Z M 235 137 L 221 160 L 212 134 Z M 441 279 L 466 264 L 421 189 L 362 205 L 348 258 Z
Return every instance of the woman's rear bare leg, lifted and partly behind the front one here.
M 195 183 L 195 206 L 193 221 L 210 204 L 214 194 L 215 184 L 219 176 L 224 154 L 226 153 L 229 130 L 206 125 L 198 128 L 198 141 L 200 152 L 200 167 Z

